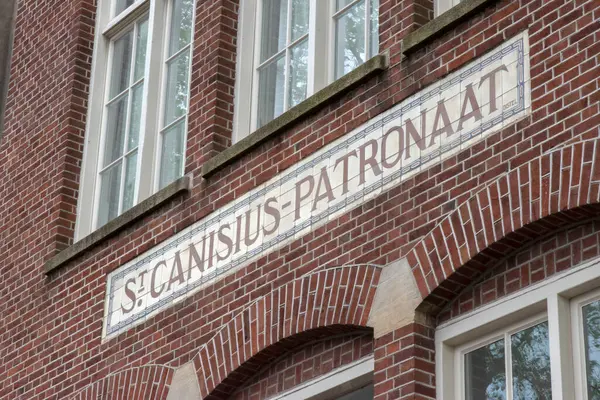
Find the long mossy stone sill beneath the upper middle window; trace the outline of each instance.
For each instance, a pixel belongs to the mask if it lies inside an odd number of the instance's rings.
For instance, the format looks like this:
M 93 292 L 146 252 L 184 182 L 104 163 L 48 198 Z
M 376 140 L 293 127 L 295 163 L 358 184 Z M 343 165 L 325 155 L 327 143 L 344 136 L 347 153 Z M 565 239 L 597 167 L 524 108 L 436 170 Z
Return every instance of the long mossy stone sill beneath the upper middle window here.
M 386 54 L 379 54 L 371 58 L 352 72 L 319 90 L 302 103 L 284 112 L 262 128 L 257 129 L 244 139 L 208 160 L 202 166 L 202 177 L 210 177 L 259 144 L 275 137 L 290 125 L 316 112 L 335 97 L 364 82 L 376 73 L 387 69 L 388 65 L 389 61 Z

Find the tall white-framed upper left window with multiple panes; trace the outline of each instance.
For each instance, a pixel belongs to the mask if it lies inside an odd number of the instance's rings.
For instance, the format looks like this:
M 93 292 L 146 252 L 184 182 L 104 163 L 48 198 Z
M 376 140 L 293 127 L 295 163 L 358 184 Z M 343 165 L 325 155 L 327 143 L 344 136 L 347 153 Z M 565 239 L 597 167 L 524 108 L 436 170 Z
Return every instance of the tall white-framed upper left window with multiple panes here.
M 193 0 L 101 0 L 80 238 L 183 175 Z

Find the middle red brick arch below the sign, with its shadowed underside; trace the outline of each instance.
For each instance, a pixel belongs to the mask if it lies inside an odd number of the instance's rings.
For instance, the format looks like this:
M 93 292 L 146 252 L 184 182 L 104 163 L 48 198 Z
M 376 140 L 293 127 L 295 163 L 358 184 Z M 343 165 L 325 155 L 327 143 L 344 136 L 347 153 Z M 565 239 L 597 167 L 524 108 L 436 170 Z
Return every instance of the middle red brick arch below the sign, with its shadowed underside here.
M 370 330 L 380 271 L 371 265 L 315 271 L 249 304 L 193 358 L 202 398 L 228 398 L 260 367 L 309 341 Z

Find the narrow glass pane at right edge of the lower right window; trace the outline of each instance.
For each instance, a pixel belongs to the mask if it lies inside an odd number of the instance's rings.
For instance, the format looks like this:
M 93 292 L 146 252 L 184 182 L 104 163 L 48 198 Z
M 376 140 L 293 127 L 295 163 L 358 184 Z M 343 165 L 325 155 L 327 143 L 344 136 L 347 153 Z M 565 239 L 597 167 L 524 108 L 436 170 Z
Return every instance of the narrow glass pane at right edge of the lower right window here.
M 600 400 L 600 301 L 583 307 L 588 400 Z

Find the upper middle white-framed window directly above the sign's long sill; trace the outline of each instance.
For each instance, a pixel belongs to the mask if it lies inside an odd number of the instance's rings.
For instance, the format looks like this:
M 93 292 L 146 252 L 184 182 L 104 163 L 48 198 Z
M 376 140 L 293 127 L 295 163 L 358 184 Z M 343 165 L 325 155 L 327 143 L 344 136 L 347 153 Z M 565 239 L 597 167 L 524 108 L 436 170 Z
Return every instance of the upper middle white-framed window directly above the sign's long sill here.
M 379 51 L 378 0 L 248 0 L 240 7 L 234 139 Z

